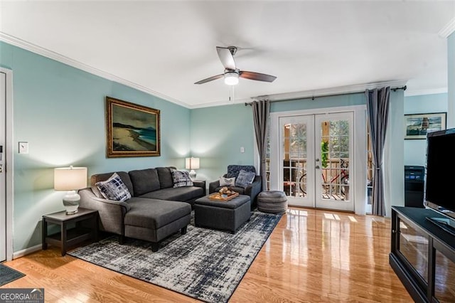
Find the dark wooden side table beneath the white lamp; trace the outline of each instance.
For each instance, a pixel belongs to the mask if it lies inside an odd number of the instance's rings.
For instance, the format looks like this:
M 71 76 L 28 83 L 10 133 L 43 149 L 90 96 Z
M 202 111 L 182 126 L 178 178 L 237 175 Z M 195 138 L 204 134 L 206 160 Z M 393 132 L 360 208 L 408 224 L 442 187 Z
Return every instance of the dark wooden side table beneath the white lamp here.
M 56 245 L 62 248 L 62 256 L 64 256 L 69 246 L 90 238 L 95 242 L 98 241 L 98 211 L 78 208 L 77 213 L 73 215 L 67 215 L 66 211 L 59 211 L 44 215 L 42 223 L 43 250 L 48 249 L 48 244 Z M 48 235 L 49 223 L 60 225 L 60 233 Z

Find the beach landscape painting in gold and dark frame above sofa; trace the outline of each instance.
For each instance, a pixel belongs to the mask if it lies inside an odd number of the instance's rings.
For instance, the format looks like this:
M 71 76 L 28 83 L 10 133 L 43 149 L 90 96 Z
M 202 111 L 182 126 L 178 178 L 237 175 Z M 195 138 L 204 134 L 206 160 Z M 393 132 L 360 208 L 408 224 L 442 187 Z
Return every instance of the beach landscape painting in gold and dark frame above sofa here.
M 159 110 L 106 97 L 107 157 L 160 156 Z

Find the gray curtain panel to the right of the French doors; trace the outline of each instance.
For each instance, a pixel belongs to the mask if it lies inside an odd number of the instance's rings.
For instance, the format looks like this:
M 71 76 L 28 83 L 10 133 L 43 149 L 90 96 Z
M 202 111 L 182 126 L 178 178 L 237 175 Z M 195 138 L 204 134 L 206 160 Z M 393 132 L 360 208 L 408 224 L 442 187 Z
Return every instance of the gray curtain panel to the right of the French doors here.
M 384 203 L 384 156 L 385 129 L 389 117 L 390 87 L 366 90 L 368 121 L 370 123 L 371 149 L 373 153 L 373 215 L 385 216 Z

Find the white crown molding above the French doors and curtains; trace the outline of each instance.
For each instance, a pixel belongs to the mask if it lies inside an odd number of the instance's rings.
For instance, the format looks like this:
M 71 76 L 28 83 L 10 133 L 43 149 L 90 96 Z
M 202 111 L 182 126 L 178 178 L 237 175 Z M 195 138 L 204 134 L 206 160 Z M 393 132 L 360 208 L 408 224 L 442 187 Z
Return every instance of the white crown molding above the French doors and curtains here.
M 346 95 L 346 94 L 353 94 L 356 92 L 365 92 L 365 90 L 373 90 L 374 88 L 384 87 L 384 86 L 402 87 L 402 86 L 406 85 L 406 83 L 407 83 L 407 80 L 392 80 L 392 81 L 383 81 L 383 82 L 377 82 L 377 83 L 364 83 L 364 84 L 323 88 L 321 90 L 304 90 L 301 92 L 286 92 L 283 94 L 275 94 L 275 95 L 261 95 L 261 96 L 257 96 L 257 97 L 252 97 L 252 99 L 253 100 L 267 99 L 270 101 L 284 101 L 284 100 L 295 100 L 295 99 L 304 99 L 304 98 L 311 98 L 311 97 Z

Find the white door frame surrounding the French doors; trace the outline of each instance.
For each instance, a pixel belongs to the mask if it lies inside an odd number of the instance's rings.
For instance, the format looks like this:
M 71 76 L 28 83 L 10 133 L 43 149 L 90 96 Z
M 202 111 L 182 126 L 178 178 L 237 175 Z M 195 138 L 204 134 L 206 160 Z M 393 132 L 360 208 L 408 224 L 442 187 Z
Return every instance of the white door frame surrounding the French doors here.
M 355 179 L 354 212 L 365 215 L 367 205 L 367 134 L 366 105 L 350 105 L 343 107 L 327 107 L 311 110 L 295 110 L 270 113 L 270 189 L 279 190 L 279 117 L 300 115 L 325 115 L 337 112 L 353 112 L 353 166 Z

